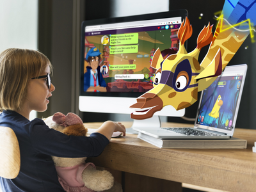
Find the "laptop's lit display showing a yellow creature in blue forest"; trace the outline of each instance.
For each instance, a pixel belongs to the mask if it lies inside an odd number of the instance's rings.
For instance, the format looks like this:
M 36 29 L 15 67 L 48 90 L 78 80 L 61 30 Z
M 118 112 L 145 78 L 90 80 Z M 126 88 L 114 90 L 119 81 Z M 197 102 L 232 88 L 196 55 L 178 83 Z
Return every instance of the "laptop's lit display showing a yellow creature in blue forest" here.
M 204 90 L 196 124 L 231 131 L 243 74 L 218 77 Z

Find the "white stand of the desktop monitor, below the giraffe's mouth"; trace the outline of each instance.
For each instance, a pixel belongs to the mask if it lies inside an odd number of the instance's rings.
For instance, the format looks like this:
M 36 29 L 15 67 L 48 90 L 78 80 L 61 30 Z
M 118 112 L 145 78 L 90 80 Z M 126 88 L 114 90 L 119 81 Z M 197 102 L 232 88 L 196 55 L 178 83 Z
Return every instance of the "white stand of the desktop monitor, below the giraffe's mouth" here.
M 137 131 L 134 131 L 133 127 L 145 127 L 145 128 L 156 128 L 161 127 L 160 117 L 157 115 L 152 116 L 152 118 L 147 118 L 145 120 L 133 120 L 131 128 L 126 128 L 126 133 L 129 134 L 138 134 Z

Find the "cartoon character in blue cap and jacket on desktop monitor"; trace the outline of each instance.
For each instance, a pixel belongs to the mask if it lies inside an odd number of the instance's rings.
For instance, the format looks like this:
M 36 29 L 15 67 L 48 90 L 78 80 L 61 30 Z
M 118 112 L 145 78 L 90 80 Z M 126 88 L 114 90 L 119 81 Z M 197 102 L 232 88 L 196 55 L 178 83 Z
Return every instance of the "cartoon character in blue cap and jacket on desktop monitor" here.
M 106 92 L 106 82 L 100 72 L 99 61 L 100 51 L 93 47 L 86 54 L 85 60 L 88 62 L 87 71 L 84 74 L 84 92 Z

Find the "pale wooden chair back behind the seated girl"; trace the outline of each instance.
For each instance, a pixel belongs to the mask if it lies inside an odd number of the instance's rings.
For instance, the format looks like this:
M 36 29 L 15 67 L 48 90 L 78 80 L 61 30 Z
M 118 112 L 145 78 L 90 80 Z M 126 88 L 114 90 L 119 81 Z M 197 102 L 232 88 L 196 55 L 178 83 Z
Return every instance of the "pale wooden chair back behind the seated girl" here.
M 14 179 L 20 172 L 20 147 L 10 127 L 0 126 L 0 177 Z

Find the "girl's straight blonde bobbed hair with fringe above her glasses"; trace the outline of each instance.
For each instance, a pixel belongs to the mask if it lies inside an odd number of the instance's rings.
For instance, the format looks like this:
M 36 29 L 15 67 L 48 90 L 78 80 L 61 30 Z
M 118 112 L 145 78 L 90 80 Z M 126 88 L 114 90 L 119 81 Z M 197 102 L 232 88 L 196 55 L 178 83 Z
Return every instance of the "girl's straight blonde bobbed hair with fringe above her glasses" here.
M 0 54 L 0 111 L 16 111 L 26 99 L 29 79 L 38 77 L 52 65 L 41 52 L 31 49 L 6 49 Z

